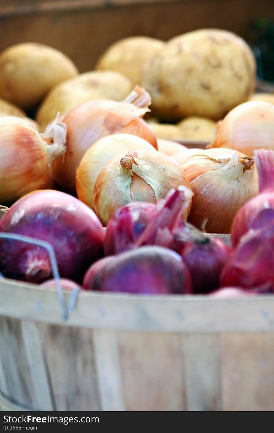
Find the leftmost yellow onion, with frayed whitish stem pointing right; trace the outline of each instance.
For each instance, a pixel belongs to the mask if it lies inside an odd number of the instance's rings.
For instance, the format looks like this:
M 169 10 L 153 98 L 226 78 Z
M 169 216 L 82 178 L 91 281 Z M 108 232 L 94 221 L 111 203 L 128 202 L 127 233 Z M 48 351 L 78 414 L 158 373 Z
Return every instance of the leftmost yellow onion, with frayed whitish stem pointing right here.
M 54 142 L 48 144 L 45 139 Z M 40 135 L 24 119 L 0 117 L 0 202 L 12 202 L 49 187 L 52 163 L 64 153 L 64 142 L 65 126 L 61 123 Z

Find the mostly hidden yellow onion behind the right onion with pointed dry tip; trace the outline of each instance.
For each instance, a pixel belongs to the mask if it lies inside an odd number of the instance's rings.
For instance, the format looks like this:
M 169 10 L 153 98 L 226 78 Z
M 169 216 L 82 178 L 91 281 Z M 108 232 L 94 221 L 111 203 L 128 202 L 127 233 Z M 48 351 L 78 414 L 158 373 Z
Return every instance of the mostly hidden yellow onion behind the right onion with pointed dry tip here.
M 224 167 L 230 161 L 234 153 L 234 150 L 226 149 L 225 147 L 208 149 L 203 153 L 190 156 L 181 167 L 187 179 L 191 182 L 202 174 Z M 245 156 L 240 152 L 237 153 L 239 156 Z

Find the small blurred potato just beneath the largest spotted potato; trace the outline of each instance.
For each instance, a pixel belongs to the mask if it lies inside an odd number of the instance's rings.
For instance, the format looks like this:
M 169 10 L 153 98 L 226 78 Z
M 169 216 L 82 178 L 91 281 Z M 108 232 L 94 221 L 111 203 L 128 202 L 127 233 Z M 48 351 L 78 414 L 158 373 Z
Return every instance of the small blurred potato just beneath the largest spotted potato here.
M 217 124 L 205 117 L 190 116 L 177 123 L 187 140 L 212 142 L 216 136 Z

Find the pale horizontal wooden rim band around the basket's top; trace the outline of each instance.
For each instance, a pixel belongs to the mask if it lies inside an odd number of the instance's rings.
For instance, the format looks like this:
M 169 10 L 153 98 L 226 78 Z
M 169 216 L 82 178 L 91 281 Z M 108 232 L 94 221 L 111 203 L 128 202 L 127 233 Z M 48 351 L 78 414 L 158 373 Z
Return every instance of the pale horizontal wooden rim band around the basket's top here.
M 64 296 L 68 303 L 70 294 L 67 292 Z M 0 280 L 0 315 L 64 324 L 54 291 L 7 279 Z M 271 332 L 274 330 L 274 297 L 213 299 L 82 291 L 66 324 L 135 331 Z

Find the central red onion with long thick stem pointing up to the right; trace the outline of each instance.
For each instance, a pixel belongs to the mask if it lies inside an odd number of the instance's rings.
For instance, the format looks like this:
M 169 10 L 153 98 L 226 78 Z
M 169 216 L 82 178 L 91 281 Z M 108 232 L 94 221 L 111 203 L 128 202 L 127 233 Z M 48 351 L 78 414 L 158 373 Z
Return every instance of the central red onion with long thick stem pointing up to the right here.
M 191 196 L 191 191 L 179 186 L 158 204 L 132 203 L 120 208 L 106 228 L 105 254 L 116 254 L 144 245 L 177 246 L 173 232 L 179 231 L 182 235 L 188 231 L 181 217 L 190 204 Z

